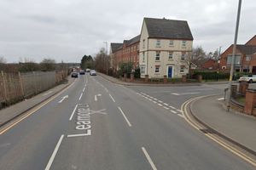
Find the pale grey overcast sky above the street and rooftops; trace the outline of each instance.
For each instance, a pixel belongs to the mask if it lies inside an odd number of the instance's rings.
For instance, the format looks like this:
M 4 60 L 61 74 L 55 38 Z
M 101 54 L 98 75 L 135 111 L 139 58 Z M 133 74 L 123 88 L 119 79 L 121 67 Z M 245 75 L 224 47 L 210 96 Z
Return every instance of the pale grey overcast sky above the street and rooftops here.
M 238 0 L 1 0 L 0 56 L 8 62 L 80 62 L 140 33 L 143 17 L 187 20 L 194 47 L 234 42 Z M 238 43 L 256 34 L 256 1 L 244 0 Z

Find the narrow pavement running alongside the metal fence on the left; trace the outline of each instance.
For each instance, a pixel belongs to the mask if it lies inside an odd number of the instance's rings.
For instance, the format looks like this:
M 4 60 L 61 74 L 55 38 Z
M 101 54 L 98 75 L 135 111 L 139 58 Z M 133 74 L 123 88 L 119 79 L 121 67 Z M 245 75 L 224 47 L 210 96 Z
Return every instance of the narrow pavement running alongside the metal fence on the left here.
M 69 86 L 73 81 L 73 78 L 67 77 L 67 82 L 62 83 L 55 88 L 50 88 L 49 90 L 33 96 L 30 99 L 25 99 L 15 105 L 10 105 L 9 107 L 0 110 L 0 127 L 15 119 L 17 116 L 22 115 L 24 112 L 31 110 L 46 99 L 49 99 L 53 95 L 59 93 L 62 89 L 67 88 L 67 86 Z

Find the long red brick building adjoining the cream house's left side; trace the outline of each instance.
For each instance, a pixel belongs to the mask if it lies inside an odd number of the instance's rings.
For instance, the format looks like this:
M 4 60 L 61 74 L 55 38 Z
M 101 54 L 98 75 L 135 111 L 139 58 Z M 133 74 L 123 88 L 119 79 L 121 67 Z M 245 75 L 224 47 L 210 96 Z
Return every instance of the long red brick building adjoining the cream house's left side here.
M 124 40 L 123 43 L 111 43 L 111 60 L 113 61 L 113 70 L 118 71 L 121 63 L 133 63 L 133 68 L 139 65 L 139 41 L 140 35 L 130 40 Z

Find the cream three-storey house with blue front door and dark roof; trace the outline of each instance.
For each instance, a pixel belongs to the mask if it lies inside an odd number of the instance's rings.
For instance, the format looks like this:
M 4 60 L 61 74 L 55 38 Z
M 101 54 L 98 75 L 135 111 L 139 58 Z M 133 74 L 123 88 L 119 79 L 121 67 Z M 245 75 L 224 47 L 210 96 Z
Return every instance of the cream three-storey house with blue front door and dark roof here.
M 192 43 L 187 21 L 144 18 L 139 48 L 141 77 L 186 75 Z

